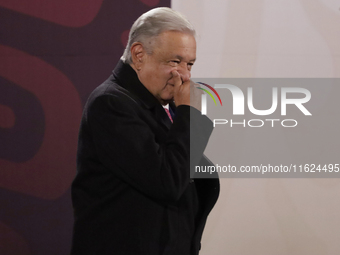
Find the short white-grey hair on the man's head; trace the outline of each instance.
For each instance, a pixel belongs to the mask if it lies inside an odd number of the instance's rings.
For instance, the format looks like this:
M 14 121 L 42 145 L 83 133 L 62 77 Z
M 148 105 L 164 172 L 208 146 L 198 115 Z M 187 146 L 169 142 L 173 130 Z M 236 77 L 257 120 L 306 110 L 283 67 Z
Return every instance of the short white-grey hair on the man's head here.
M 152 9 L 141 15 L 132 25 L 129 40 L 121 57 L 123 62 L 132 63 L 131 46 L 135 42 L 143 44 L 147 54 L 152 54 L 154 39 L 165 31 L 178 31 L 195 37 L 196 32 L 190 22 L 179 12 L 168 7 Z

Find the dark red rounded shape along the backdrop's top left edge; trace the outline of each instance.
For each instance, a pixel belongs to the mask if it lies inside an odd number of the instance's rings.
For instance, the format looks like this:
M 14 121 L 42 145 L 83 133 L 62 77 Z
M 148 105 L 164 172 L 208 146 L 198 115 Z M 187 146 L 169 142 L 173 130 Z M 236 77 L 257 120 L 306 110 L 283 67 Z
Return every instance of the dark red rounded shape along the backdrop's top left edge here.
M 81 27 L 98 14 L 104 0 L 0 0 L 0 6 L 68 27 Z

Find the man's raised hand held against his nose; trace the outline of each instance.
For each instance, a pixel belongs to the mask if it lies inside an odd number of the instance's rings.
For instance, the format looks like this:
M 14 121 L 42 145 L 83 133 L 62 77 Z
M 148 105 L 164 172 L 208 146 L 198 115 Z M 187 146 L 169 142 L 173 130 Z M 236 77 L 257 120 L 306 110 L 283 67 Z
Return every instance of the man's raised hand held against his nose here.
M 201 111 L 201 95 L 202 90 L 197 89 L 198 84 L 192 80 L 182 83 L 180 74 L 177 71 L 172 71 L 174 79 L 174 101 L 175 105 L 190 105 Z

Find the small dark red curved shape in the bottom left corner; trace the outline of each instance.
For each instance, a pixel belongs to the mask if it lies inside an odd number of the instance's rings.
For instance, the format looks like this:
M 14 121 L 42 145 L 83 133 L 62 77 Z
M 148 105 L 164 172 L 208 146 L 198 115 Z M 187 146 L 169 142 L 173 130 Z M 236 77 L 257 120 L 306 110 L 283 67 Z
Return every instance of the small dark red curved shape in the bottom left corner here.
M 30 255 L 26 240 L 13 229 L 0 222 L 0 254 L 1 255 Z

